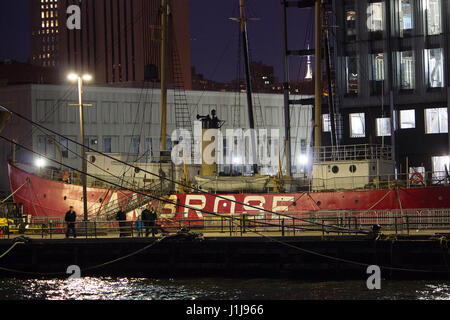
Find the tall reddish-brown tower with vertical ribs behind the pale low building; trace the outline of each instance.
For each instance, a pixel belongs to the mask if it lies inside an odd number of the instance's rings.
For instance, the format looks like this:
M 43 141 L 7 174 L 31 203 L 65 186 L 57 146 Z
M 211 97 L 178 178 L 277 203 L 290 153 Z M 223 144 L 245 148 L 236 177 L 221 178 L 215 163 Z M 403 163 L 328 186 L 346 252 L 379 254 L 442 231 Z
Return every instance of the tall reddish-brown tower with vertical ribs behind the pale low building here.
M 57 65 L 61 79 L 69 71 L 90 72 L 98 84 L 160 78 L 160 0 L 40 0 L 39 6 L 36 0 L 30 2 L 33 62 Z M 189 89 L 189 1 L 169 3 L 169 82 Z M 81 9 L 79 30 L 67 27 L 70 5 Z M 47 34 L 54 36 L 49 39 Z

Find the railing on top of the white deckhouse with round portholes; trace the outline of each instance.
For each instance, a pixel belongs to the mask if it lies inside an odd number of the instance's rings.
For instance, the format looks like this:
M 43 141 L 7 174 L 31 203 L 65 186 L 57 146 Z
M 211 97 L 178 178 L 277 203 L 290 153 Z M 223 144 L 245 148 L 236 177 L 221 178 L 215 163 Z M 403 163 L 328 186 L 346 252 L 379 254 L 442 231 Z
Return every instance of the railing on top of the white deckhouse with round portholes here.
M 392 160 L 392 147 L 377 144 L 322 146 L 314 152 L 315 162 Z

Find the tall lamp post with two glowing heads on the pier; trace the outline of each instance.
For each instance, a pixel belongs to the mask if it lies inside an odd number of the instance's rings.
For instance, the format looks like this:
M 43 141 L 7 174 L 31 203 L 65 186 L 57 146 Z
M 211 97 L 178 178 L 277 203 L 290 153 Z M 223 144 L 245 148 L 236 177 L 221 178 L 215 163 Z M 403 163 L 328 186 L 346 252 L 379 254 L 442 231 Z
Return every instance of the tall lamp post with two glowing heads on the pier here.
M 83 118 L 83 81 L 89 82 L 92 80 L 92 76 L 84 74 L 82 76 L 71 73 L 67 77 L 71 82 L 78 82 L 78 106 L 80 112 L 80 139 L 81 139 L 81 182 L 83 184 L 83 216 L 84 221 L 88 221 L 88 209 L 87 209 L 87 183 L 86 183 L 86 151 L 84 148 L 84 118 Z M 87 105 L 86 105 L 87 106 Z

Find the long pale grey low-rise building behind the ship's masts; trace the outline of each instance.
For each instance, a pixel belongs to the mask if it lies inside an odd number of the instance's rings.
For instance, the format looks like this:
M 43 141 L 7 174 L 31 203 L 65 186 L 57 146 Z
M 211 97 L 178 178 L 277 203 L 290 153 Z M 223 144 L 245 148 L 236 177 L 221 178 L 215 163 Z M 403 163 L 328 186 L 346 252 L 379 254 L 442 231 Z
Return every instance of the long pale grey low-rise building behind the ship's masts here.
M 240 94 L 242 97 L 237 97 Z M 298 98 L 305 98 L 298 96 Z M 310 98 L 310 96 L 306 97 Z M 279 132 L 279 139 L 269 140 L 273 150 L 280 150 L 282 162 L 284 159 L 284 113 L 283 96 L 278 94 L 258 94 L 255 100 L 259 102 L 262 112 L 262 121 L 256 129 L 266 129 L 271 138 L 271 130 Z M 225 121 L 221 128 L 223 134 L 227 129 L 248 128 L 247 107 L 245 94 L 233 92 L 205 92 L 186 91 L 189 114 L 192 123 L 197 120 L 197 115 L 206 116 L 212 110 L 217 111 L 220 120 Z M 242 105 L 236 104 L 241 101 Z M 167 110 L 167 141 L 172 147 L 171 134 L 176 127 L 175 94 L 172 90 L 168 92 Z M 13 117 L 12 123 L 7 127 L 5 135 L 14 138 L 22 145 L 31 146 L 33 150 L 45 154 L 73 168 L 80 168 L 81 147 L 70 142 L 67 138 L 79 141 L 80 127 L 78 108 L 70 106 L 77 103 L 76 86 L 56 85 L 22 85 L 0 88 L 0 105 L 12 110 L 18 110 L 34 122 L 49 128 L 66 138 L 55 136 L 44 132 L 30 124 L 22 121 L 18 126 L 19 119 Z M 87 86 L 84 91 L 84 103 L 91 106 L 85 107 L 85 145 L 105 153 L 128 154 L 130 159 L 136 156 L 144 162 L 159 160 L 160 141 L 160 90 L 152 88 L 118 88 Z M 312 106 L 298 106 L 291 111 L 291 136 L 294 173 L 307 170 L 305 155 L 309 152 L 312 133 Z M 16 123 L 17 122 L 17 123 Z M 281 143 L 279 143 L 281 141 Z M 61 154 L 58 151 L 60 147 Z M 12 158 L 12 146 L 0 142 L 0 159 L 6 161 Z M 227 146 L 224 145 L 226 154 Z M 246 148 L 248 150 L 249 148 Z M 231 171 L 242 173 L 241 159 L 248 156 L 243 153 L 233 155 L 232 165 L 222 165 L 219 171 L 230 174 Z M 36 160 L 35 154 L 25 150 L 16 150 L 16 160 L 21 163 L 33 165 Z M 301 161 L 300 161 L 301 160 Z M 58 164 L 47 161 L 49 166 L 58 168 Z M 262 168 L 262 174 L 276 174 L 277 165 L 266 165 Z M 283 164 L 284 167 L 284 164 Z M 0 181 L 1 189 L 7 190 L 7 172 L 5 163 L 1 166 Z M 249 173 L 251 165 L 246 165 L 244 173 Z

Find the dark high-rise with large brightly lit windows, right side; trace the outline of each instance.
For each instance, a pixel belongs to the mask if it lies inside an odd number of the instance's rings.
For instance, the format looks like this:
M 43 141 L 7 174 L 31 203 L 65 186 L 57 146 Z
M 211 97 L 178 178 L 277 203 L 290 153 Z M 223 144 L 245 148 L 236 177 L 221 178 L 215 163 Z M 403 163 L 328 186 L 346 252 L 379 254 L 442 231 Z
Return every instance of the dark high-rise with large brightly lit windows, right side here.
M 401 173 L 444 172 L 449 1 L 333 0 L 333 6 L 340 142 L 394 145 Z M 328 115 L 323 129 L 331 131 Z

